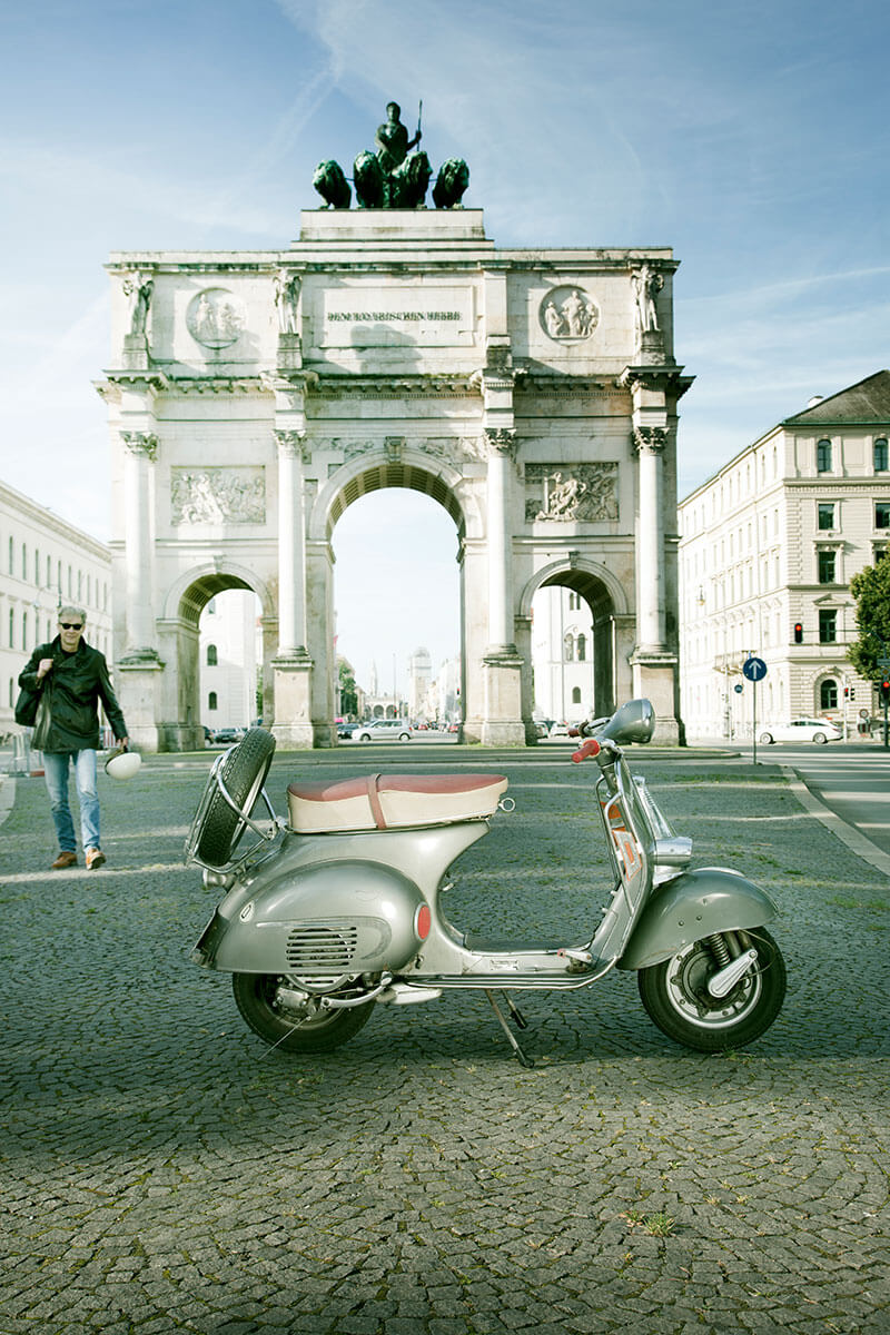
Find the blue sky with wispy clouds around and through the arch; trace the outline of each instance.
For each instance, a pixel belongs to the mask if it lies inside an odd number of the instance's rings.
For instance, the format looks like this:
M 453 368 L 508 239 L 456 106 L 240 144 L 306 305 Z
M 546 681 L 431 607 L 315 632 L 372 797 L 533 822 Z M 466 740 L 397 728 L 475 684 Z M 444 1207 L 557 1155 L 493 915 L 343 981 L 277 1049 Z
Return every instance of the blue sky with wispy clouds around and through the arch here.
M 0 477 L 105 538 L 108 252 L 286 246 L 319 159 L 423 97 L 424 148 L 467 159 L 496 244 L 674 248 L 683 495 L 890 364 L 889 45 L 879 0 L 7 0 Z M 338 606 L 364 654 L 362 506 Z M 454 579 L 450 521 L 412 522 Z M 382 662 L 452 630 L 406 634 Z

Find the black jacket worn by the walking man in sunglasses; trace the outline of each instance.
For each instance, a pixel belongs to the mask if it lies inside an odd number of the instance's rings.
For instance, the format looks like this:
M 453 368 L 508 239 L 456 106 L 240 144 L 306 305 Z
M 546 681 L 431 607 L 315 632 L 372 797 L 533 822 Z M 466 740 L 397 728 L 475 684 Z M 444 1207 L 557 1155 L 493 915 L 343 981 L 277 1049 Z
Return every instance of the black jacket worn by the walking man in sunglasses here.
M 37 681 L 41 658 L 52 658 L 52 672 Z M 61 637 L 37 645 L 19 676 L 20 686 L 49 692 L 49 741 L 47 752 L 96 750 L 99 748 L 99 713 L 101 700 L 115 737 L 127 737 L 127 724 L 112 690 L 105 655 L 85 639 L 73 654 L 61 647 Z

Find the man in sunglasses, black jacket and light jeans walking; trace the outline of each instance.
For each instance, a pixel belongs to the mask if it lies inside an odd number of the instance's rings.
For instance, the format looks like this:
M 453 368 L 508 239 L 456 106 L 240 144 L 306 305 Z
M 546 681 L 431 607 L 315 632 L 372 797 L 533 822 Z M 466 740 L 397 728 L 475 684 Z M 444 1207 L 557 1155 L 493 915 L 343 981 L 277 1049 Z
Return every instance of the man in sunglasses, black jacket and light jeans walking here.
M 127 724 L 108 676 L 105 655 L 83 638 L 87 613 L 61 607 L 59 634 L 37 645 L 19 677 L 19 685 L 48 692 L 49 724 L 40 738 L 49 808 L 56 826 L 59 854 L 53 870 L 77 865 L 77 840 L 68 806 L 68 769 L 73 766 L 80 804 L 80 833 L 88 870 L 105 861 L 99 837 L 96 750 L 99 749 L 99 701 L 115 737 L 128 742 Z

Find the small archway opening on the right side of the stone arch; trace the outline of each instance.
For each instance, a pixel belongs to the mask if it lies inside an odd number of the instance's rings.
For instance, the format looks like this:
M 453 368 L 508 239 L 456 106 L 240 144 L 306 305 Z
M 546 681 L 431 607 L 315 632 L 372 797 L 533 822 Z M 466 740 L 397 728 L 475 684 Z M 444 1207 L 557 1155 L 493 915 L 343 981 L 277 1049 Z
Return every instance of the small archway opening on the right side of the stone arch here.
M 532 720 L 550 729 L 615 709 L 615 607 L 584 570 L 544 579 L 531 602 Z

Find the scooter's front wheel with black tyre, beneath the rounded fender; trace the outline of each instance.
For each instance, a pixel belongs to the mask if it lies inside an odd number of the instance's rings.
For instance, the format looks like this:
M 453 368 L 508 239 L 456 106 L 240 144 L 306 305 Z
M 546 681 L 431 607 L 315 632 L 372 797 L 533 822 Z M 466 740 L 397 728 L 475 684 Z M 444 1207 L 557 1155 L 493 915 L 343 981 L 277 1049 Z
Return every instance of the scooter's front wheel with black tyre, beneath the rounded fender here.
M 754 1043 L 770 1028 L 785 1000 L 785 960 L 766 928 L 723 933 L 725 944 L 727 936 L 735 937 L 742 951 L 754 947 L 757 961 L 725 997 L 707 989 L 709 979 L 719 969 L 713 940 L 693 941 L 670 960 L 638 973 L 650 1019 L 669 1039 L 697 1052 L 727 1052 Z

